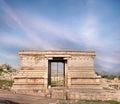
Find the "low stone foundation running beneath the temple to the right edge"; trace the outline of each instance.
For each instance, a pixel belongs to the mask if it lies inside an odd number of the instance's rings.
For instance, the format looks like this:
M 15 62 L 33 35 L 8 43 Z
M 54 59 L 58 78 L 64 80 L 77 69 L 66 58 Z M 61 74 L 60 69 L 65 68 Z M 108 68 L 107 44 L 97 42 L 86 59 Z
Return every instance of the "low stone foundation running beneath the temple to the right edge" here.
M 80 89 L 17 90 L 17 93 L 63 100 L 114 100 L 120 101 L 120 91 Z

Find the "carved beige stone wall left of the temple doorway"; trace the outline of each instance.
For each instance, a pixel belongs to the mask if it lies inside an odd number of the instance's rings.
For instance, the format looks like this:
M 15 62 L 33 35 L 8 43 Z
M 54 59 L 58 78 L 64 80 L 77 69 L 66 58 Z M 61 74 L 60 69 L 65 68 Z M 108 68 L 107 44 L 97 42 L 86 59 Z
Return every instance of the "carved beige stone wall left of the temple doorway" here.
M 20 55 L 21 70 L 14 76 L 14 90 L 47 89 L 48 60 L 44 55 Z

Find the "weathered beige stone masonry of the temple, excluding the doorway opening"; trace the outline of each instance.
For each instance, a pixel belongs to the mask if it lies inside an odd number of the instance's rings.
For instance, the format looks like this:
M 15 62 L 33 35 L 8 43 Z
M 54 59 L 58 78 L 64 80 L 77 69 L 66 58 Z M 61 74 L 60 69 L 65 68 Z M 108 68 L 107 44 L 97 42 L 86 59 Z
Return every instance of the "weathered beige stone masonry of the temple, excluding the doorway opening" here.
M 20 51 L 21 70 L 14 76 L 12 90 L 24 94 L 51 96 L 48 89 L 49 61 L 65 61 L 64 86 L 67 89 L 100 89 L 100 77 L 94 71 L 95 52 L 88 51 Z M 46 90 L 46 91 L 45 91 Z M 45 91 L 45 92 L 44 92 Z M 62 90 L 61 90 L 62 91 Z M 59 94 L 63 94 L 56 90 Z M 54 90 L 53 92 L 54 93 Z M 66 93 L 66 92 L 65 92 Z M 54 93 L 55 94 L 55 93 Z M 70 95 L 79 98 L 79 95 Z M 83 96 L 84 97 L 84 96 Z M 63 97 L 64 99 L 64 97 Z

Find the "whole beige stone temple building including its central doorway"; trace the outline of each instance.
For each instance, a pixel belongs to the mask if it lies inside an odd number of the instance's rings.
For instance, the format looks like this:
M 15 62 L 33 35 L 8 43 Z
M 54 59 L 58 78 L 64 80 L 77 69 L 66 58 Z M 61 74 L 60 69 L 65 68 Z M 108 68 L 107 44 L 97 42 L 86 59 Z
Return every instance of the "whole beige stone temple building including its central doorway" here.
M 75 91 L 101 89 L 93 51 L 22 50 L 19 55 L 21 70 L 14 76 L 12 87 L 18 93 L 54 98 L 58 92 L 66 99 L 66 94 L 70 98 Z

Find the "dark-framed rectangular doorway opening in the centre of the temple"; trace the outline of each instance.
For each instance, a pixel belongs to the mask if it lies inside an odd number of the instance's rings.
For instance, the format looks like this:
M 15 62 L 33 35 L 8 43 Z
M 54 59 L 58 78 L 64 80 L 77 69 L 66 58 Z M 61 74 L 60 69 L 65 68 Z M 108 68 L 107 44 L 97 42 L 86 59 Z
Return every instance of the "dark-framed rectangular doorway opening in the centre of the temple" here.
M 49 61 L 48 85 L 51 87 L 65 86 L 65 61 L 61 58 Z

